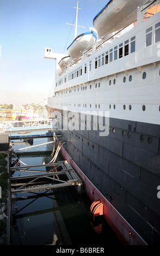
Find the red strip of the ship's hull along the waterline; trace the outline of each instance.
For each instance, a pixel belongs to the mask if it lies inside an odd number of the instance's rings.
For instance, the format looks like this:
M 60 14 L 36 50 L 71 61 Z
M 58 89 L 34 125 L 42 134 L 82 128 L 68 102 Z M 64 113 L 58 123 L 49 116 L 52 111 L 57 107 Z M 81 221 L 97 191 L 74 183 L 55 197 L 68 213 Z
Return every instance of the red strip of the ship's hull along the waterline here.
M 103 216 L 114 233 L 119 237 L 124 245 L 147 245 L 146 242 L 138 235 L 138 233 L 126 222 L 112 204 L 101 194 L 99 190 L 90 182 L 87 176 L 71 159 L 66 150 L 61 147 L 61 155 L 75 170 L 79 178 L 82 180 L 83 188 L 92 202 L 100 200 L 103 203 Z

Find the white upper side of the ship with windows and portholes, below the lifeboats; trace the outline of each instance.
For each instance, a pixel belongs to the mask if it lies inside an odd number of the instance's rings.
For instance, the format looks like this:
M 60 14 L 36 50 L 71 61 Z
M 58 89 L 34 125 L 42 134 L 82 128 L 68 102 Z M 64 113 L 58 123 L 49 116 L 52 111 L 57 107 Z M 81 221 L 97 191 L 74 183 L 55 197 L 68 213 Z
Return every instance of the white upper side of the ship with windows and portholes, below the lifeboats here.
M 57 72 L 54 107 L 109 111 L 110 117 L 160 124 L 160 13 L 83 53 L 79 63 Z M 121 32 L 122 33 L 122 32 Z

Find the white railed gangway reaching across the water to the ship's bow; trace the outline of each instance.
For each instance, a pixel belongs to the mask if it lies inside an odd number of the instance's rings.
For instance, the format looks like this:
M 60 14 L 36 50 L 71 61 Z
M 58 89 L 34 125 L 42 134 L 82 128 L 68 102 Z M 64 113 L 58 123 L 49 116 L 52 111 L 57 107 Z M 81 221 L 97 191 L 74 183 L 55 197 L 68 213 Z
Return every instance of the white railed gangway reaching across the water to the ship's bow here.
M 56 130 L 55 119 L 34 119 L 23 121 L 3 121 L 4 133 L 30 132 L 39 130 Z

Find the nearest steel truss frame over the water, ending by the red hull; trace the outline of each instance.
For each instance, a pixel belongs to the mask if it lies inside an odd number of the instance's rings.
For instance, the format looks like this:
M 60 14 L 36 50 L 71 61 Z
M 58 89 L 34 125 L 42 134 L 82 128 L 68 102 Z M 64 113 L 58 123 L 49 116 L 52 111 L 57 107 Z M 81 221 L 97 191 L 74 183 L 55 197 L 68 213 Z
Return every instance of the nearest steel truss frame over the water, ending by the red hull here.
M 35 167 L 53 167 L 50 171 L 29 170 Z M 60 171 L 57 168 L 61 167 Z M 26 169 L 26 170 L 22 170 Z M 81 193 L 82 181 L 67 161 L 57 163 L 36 164 L 34 166 L 10 167 L 10 170 L 26 173 L 24 176 L 11 177 L 11 193 L 26 193 L 35 191 L 53 190 L 58 187 L 75 186 L 77 192 Z M 28 172 L 39 172 L 39 174 L 28 175 Z M 41 173 L 40 173 L 41 172 Z M 59 178 L 61 175 L 61 179 Z

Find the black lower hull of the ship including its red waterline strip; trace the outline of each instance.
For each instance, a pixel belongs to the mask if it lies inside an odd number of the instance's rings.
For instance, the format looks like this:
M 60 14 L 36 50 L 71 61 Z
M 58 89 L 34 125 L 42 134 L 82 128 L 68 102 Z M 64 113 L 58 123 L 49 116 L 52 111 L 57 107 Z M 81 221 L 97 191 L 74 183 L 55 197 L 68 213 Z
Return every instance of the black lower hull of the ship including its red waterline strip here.
M 109 118 L 109 133 L 100 136 L 100 130 L 87 130 L 86 125 L 85 129 L 64 129 L 63 117 L 69 113 L 55 108 L 48 112 L 59 124 L 60 113 L 65 141 L 61 153 L 80 174 L 90 199 L 105 202 L 104 217 L 120 239 L 128 244 L 157 245 L 160 126 Z

